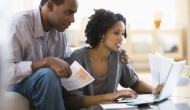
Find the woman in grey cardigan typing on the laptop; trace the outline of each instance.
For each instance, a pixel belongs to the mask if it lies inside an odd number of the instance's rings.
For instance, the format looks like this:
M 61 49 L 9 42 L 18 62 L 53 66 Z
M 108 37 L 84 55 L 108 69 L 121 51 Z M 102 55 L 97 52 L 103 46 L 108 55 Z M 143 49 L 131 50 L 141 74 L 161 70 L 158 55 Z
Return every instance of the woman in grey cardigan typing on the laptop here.
M 139 80 L 130 64 L 120 62 L 120 47 L 127 37 L 126 20 L 121 14 L 104 9 L 95 10 L 86 26 L 85 35 L 90 47 L 74 51 L 70 64 L 76 60 L 95 81 L 81 89 L 65 93 L 69 109 L 79 109 L 121 97 L 137 97 L 136 92 L 159 93 L 162 85 L 153 89 Z M 118 84 L 132 90 L 117 91 Z

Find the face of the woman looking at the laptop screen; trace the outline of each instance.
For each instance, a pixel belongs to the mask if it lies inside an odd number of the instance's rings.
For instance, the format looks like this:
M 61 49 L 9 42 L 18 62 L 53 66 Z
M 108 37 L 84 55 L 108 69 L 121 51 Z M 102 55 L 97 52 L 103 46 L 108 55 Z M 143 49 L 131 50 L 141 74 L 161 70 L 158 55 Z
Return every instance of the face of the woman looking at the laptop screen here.
M 106 34 L 103 34 L 103 44 L 109 50 L 119 51 L 124 39 L 125 25 L 122 21 L 115 23 L 113 27 L 108 29 Z

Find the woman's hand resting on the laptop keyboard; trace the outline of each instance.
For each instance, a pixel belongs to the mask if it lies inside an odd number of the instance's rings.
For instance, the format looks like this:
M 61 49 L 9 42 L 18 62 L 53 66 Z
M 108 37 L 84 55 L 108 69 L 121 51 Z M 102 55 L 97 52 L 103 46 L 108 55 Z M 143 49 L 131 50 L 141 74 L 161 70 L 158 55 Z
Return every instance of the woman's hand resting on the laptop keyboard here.
M 108 94 L 108 99 L 112 101 L 112 100 L 116 100 L 122 97 L 136 98 L 137 96 L 138 95 L 135 91 L 131 89 L 124 89 L 124 90 L 120 90 L 120 91 Z

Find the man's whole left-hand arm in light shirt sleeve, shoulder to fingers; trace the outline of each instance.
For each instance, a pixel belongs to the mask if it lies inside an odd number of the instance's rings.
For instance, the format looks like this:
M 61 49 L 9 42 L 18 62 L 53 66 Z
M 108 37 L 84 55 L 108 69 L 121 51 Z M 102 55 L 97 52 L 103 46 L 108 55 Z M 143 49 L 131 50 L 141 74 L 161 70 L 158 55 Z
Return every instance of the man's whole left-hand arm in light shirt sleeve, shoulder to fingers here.
M 19 21 L 21 22 L 21 21 Z M 22 25 L 17 25 L 22 24 Z M 10 29 L 8 29 L 7 35 L 9 36 L 8 47 L 10 47 L 7 55 L 10 57 L 7 59 L 8 65 L 7 73 L 5 75 L 8 85 L 18 83 L 23 79 L 29 77 L 36 70 L 43 67 L 52 68 L 59 77 L 69 77 L 71 70 L 69 64 L 65 61 L 55 58 L 47 57 L 39 60 L 32 61 L 30 59 L 23 60 L 26 56 L 25 53 L 31 44 L 30 32 L 27 24 L 25 23 L 10 23 Z M 23 31 L 24 30 L 24 31 Z

